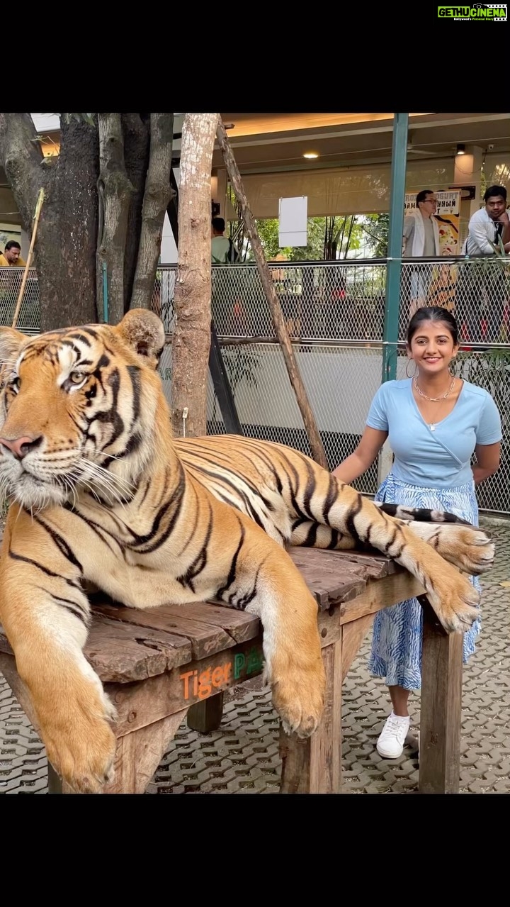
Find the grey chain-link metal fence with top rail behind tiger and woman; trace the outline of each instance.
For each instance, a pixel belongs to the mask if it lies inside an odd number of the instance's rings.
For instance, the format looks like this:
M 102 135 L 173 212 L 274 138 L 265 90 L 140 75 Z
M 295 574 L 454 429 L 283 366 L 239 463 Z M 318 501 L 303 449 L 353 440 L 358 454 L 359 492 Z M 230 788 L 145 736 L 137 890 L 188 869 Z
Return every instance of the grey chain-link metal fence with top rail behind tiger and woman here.
M 283 262 L 269 269 L 333 468 L 358 444 L 380 385 L 386 260 Z M 510 513 L 510 260 L 403 259 L 401 269 L 397 377 L 405 377 L 409 315 L 425 304 L 447 307 L 461 331 L 459 374 L 486 387 L 503 422 L 502 465 L 480 486 L 478 501 L 483 510 Z M 18 326 L 36 333 L 39 297 L 34 268 L 30 270 Z M 5 287 L 3 271 L 9 272 Z M 174 323 L 176 273 L 177 266 L 161 266 L 152 297 L 168 336 Z M 0 268 L 2 324 L 12 321 L 22 275 L 23 268 Z M 255 265 L 215 265 L 211 305 L 244 433 L 311 453 Z M 169 343 L 159 372 L 170 400 Z M 207 431 L 225 431 L 211 379 Z M 354 484 L 361 492 L 374 493 L 376 464 Z

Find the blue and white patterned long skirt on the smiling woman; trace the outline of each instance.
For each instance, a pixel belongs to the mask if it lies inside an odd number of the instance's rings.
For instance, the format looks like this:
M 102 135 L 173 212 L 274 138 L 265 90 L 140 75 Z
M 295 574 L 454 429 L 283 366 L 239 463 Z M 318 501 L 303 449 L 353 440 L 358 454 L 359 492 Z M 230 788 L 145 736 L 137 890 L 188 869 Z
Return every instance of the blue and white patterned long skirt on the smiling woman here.
M 478 506 L 475 483 L 457 485 L 456 488 L 421 488 L 400 482 L 390 473 L 375 495 L 376 501 L 407 504 L 410 507 L 431 507 L 449 511 L 478 525 Z M 470 577 L 480 590 L 480 582 Z M 385 678 L 387 687 L 399 686 L 404 689 L 421 687 L 421 643 L 423 612 L 418 599 L 400 601 L 398 605 L 377 612 L 372 634 L 372 646 L 368 668 L 375 677 Z M 464 634 L 463 661 L 466 664 L 473 655 L 475 639 L 480 632 L 477 619 Z

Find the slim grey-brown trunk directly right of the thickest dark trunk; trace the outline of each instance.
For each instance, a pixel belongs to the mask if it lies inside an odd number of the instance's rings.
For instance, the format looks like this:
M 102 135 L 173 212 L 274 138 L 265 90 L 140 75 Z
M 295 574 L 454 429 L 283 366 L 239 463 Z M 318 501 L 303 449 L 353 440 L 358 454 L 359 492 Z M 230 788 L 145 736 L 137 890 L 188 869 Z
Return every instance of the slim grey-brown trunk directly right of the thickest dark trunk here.
M 108 287 L 108 321 L 124 316 L 124 259 L 130 200 L 134 192 L 124 162 L 120 113 L 98 113 L 100 176 L 99 231 L 96 256 L 98 298 L 102 298 L 103 266 Z

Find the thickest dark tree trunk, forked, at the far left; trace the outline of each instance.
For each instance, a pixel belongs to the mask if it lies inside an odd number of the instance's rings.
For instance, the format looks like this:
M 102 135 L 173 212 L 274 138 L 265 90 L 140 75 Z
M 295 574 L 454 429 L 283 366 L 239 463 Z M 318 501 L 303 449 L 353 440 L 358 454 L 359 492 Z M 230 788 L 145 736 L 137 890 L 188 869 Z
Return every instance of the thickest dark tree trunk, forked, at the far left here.
M 61 130 L 60 155 L 43 158 L 29 114 L 0 113 L 0 157 L 29 235 L 44 189 L 34 246 L 41 330 L 97 320 L 97 130 L 64 117 Z

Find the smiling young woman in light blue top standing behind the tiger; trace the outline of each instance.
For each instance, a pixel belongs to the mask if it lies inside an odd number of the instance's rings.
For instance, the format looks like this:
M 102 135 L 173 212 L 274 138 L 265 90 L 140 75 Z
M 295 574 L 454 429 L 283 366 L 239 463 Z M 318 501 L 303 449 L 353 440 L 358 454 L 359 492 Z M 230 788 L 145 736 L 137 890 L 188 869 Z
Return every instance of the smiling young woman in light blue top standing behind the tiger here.
M 380 386 L 360 444 L 333 475 L 352 483 L 389 438 L 394 462 L 376 501 L 449 511 L 477 525 L 475 485 L 499 466 L 501 420 L 486 390 L 451 373 L 458 346 L 457 322 L 447 309 L 419 308 L 407 337 L 414 375 Z M 478 580 L 472 581 L 479 589 Z M 475 651 L 479 631 L 478 619 L 464 635 L 464 662 Z M 400 756 L 409 731 L 409 692 L 421 686 L 421 640 L 417 599 L 377 613 L 369 669 L 386 678 L 390 691 L 393 710 L 377 742 L 380 756 L 388 759 Z

